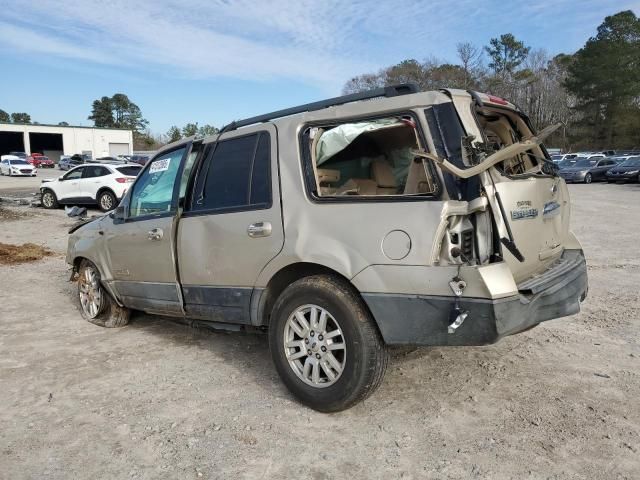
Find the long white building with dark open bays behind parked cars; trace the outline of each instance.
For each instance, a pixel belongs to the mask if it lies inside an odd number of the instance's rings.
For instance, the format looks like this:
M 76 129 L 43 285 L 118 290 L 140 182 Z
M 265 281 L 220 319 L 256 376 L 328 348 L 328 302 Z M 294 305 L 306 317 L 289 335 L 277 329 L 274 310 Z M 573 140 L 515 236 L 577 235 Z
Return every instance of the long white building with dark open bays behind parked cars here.
M 99 158 L 130 155 L 132 151 L 131 130 L 0 123 L 0 155 L 37 152 L 57 162 L 60 155 L 89 153 Z

